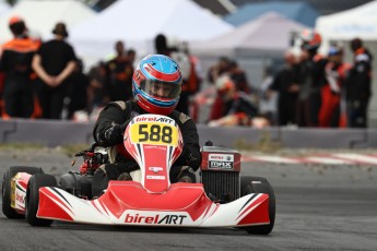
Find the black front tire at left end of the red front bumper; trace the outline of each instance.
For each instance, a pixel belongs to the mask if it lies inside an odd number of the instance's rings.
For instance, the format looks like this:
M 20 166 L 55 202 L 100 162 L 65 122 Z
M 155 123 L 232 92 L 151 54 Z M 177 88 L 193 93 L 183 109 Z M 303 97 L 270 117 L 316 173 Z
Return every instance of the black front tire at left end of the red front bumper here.
M 42 187 L 57 187 L 55 177 L 45 174 L 36 174 L 31 177 L 26 191 L 25 218 L 32 226 L 48 227 L 52 224 L 51 219 L 37 218 L 36 216 L 39 206 L 39 188 Z

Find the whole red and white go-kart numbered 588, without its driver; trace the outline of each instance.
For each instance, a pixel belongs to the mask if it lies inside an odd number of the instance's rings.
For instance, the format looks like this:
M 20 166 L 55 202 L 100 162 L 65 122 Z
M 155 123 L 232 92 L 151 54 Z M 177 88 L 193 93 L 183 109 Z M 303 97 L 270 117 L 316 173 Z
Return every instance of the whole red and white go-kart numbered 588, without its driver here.
M 239 177 L 237 151 L 207 144 L 201 148 L 200 183 L 170 183 L 169 169 L 182 151 L 177 123 L 165 116 L 141 115 L 125 131 L 123 145 L 140 169 L 132 180 L 110 180 L 97 198 L 91 183 L 95 170 L 109 162 L 96 144 L 76 156 L 80 171 L 63 175 L 59 184 L 36 167 L 10 167 L 2 182 L 2 212 L 25 217 L 33 226 L 52 220 L 83 224 L 237 227 L 268 235 L 275 218 L 270 183 Z

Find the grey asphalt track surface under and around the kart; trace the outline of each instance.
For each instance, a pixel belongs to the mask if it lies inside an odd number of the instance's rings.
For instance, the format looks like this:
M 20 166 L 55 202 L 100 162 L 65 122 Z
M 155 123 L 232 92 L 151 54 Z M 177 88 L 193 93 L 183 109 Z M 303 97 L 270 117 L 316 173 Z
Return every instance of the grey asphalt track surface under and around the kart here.
M 1 177 L 12 165 L 59 176 L 72 169 L 70 163 L 57 150 L 0 150 Z M 38 228 L 0 213 L 0 250 L 377 250 L 377 166 L 248 163 L 241 174 L 266 177 L 275 190 L 269 236 L 233 228 Z

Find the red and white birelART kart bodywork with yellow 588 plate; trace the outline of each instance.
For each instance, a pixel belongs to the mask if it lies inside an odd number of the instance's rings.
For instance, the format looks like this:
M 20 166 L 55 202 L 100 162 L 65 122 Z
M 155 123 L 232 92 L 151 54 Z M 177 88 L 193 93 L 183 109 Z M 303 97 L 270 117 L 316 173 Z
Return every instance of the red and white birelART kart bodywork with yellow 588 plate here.
M 248 227 L 270 224 L 267 193 L 250 193 L 221 204 L 209 199 L 202 183 L 170 183 L 169 168 L 182 150 L 182 136 L 173 119 L 157 115 L 133 118 L 126 129 L 125 146 L 140 166 L 139 181 L 110 181 L 107 190 L 94 200 L 78 198 L 58 187 L 42 187 L 36 217 L 133 226 Z M 12 178 L 14 198 L 11 201 L 19 213 L 27 207 L 25 195 L 30 177 L 19 172 Z M 133 174 L 132 177 L 137 176 Z

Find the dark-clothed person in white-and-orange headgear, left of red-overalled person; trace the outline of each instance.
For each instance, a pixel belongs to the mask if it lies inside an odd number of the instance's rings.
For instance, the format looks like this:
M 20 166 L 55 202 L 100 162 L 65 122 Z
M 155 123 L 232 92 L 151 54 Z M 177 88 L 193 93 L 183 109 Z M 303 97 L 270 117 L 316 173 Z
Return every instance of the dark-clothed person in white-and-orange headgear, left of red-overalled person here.
M 321 36 L 313 29 L 301 33 L 299 93 L 297 123 L 299 127 L 318 127 L 321 106 L 321 86 L 325 84 L 326 58 L 318 53 Z

